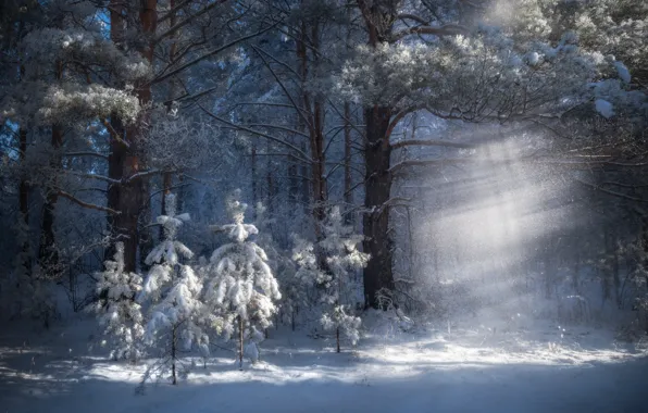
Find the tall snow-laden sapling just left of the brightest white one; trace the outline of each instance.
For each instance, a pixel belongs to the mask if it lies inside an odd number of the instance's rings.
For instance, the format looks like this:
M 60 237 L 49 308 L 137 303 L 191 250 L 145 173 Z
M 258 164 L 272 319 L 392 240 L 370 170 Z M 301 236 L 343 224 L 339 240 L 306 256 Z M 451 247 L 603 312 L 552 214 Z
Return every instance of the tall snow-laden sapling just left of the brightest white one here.
M 164 230 L 164 240 L 153 248 L 146 259 L 152 265 L 139 301 L 149 303 L 150 318 L 146 326 L 145 339 L 150 346 L 164 345 L 162 373 L 171 367 L 172 383 L 177 383 L 178 350 L 190 350 L 198 345 L 204 353 L 209 338 L 199 327 L 202 311 L 200 293 L 202 283 L 194 268 L 180 263 L 180 258 L 189 260 L 194 253 L 176 239 L 177 230 L 188 214 L 176 215 L 175 196 L 166 196 L 166 215 L 158 216 L 158 224 Z M 185 370 L 186 372 L 186 370 Z

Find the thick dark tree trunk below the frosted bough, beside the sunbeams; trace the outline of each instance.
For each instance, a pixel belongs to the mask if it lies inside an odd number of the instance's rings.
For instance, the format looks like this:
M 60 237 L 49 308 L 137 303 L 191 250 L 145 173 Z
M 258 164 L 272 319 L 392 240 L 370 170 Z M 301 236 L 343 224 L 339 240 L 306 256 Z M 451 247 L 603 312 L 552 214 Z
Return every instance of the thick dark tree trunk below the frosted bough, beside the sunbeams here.
M 391 147 L 387 136 L 391 109 L 375 105 L 364 111 L 366 124 L 365 189 L 364 189 L 364 252 L 371 259 L 364 268 L 365 306 L 378 308 L 377 292 L 394 289 L 391 272 L 391 237 L 389 235 L 389 196 Z

